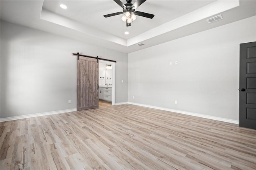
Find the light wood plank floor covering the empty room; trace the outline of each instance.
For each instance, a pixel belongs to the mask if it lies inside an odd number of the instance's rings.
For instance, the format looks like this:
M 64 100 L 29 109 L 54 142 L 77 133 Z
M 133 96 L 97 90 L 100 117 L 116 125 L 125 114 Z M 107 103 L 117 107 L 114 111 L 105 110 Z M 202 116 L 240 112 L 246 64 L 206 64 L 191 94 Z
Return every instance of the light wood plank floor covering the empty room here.
M 134 105 L 1 123 L 4 169 L 256 169 L 256 130 Z

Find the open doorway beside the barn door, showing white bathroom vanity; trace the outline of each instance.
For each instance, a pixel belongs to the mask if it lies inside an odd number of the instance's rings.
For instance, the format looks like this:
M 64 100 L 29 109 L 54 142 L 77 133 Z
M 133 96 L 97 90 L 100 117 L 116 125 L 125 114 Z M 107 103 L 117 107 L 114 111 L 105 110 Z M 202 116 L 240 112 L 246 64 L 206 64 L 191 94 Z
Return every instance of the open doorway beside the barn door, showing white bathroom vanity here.
M 101 68 L 100 68 L 101 67 Z M 116 104 L 116 63 L 99 60 L 99 99 Z M 111 99 L 111 100 L 110 100 Z

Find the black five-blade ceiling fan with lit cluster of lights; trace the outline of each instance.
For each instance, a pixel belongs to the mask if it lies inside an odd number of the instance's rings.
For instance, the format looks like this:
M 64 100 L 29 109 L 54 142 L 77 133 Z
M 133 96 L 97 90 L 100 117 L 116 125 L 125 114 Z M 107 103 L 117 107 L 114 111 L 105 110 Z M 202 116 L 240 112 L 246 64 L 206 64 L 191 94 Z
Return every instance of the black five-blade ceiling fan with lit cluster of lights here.
M 127 27 L 131 26 L 132 21 L 136 20 L 136 15 L 143 16 L 143 17 L 150 18 L 150 19 L 152 19 L 155 16 L 153 14 L 148 14 L 148 13 L 145 13 L 145 12 L 135 11 L 136 8 L 138 8 L 138 6 L 143 4 L 146 0 L 137 0 L 136 2 L 134 2 L 134 4 L 131 3 L 132 0 L 126 0 L 127 4 L 123 4 L 120 0 L 114 0 L 114 1 L 119 6 L 121 6 L 123 8 L 123 12 L 116 12 L 116 13 L 113 13 L 113 14 L 104 15 L 104 17 L 107 18 L 107 17 L 110 17 L 110 16 L 124 14 L 121 19 L 124 22 L 126 22 Z

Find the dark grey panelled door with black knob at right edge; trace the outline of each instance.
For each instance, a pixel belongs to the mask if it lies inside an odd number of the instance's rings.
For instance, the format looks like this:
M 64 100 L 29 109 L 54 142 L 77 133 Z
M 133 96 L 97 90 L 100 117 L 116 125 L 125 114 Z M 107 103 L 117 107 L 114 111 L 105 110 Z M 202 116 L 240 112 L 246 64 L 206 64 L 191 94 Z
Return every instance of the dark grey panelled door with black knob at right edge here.
M 240 44 L 239 126 L 256 129 L 256 42 Z

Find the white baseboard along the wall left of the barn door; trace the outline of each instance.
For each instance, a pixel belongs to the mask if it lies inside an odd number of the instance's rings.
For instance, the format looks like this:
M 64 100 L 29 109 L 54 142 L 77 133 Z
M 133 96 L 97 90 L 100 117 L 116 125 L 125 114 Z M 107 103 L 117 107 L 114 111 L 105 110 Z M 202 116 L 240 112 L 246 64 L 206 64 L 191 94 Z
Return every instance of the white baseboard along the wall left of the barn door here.
M 53 111 L 53 112 L 45 112 L 45 113 L 36 113 L 36 114 L 31 114 L 31 115 L 22 115 L 22 116 L 6 117 L 6 118 L 1 118 L 1 119 L 0 119 L 0 122 L 14 121 L 14 120 L 18 120 L 18 119 L 26 119 L 26 118 L 30 118 L 30 117 L 54 115 L 54 114 L 66 113 L 66 112 L 74 112 L 74 111 L 76 111 L 76 109 L 67 109 L 67 110 L 61 110 L 61 111 Z

